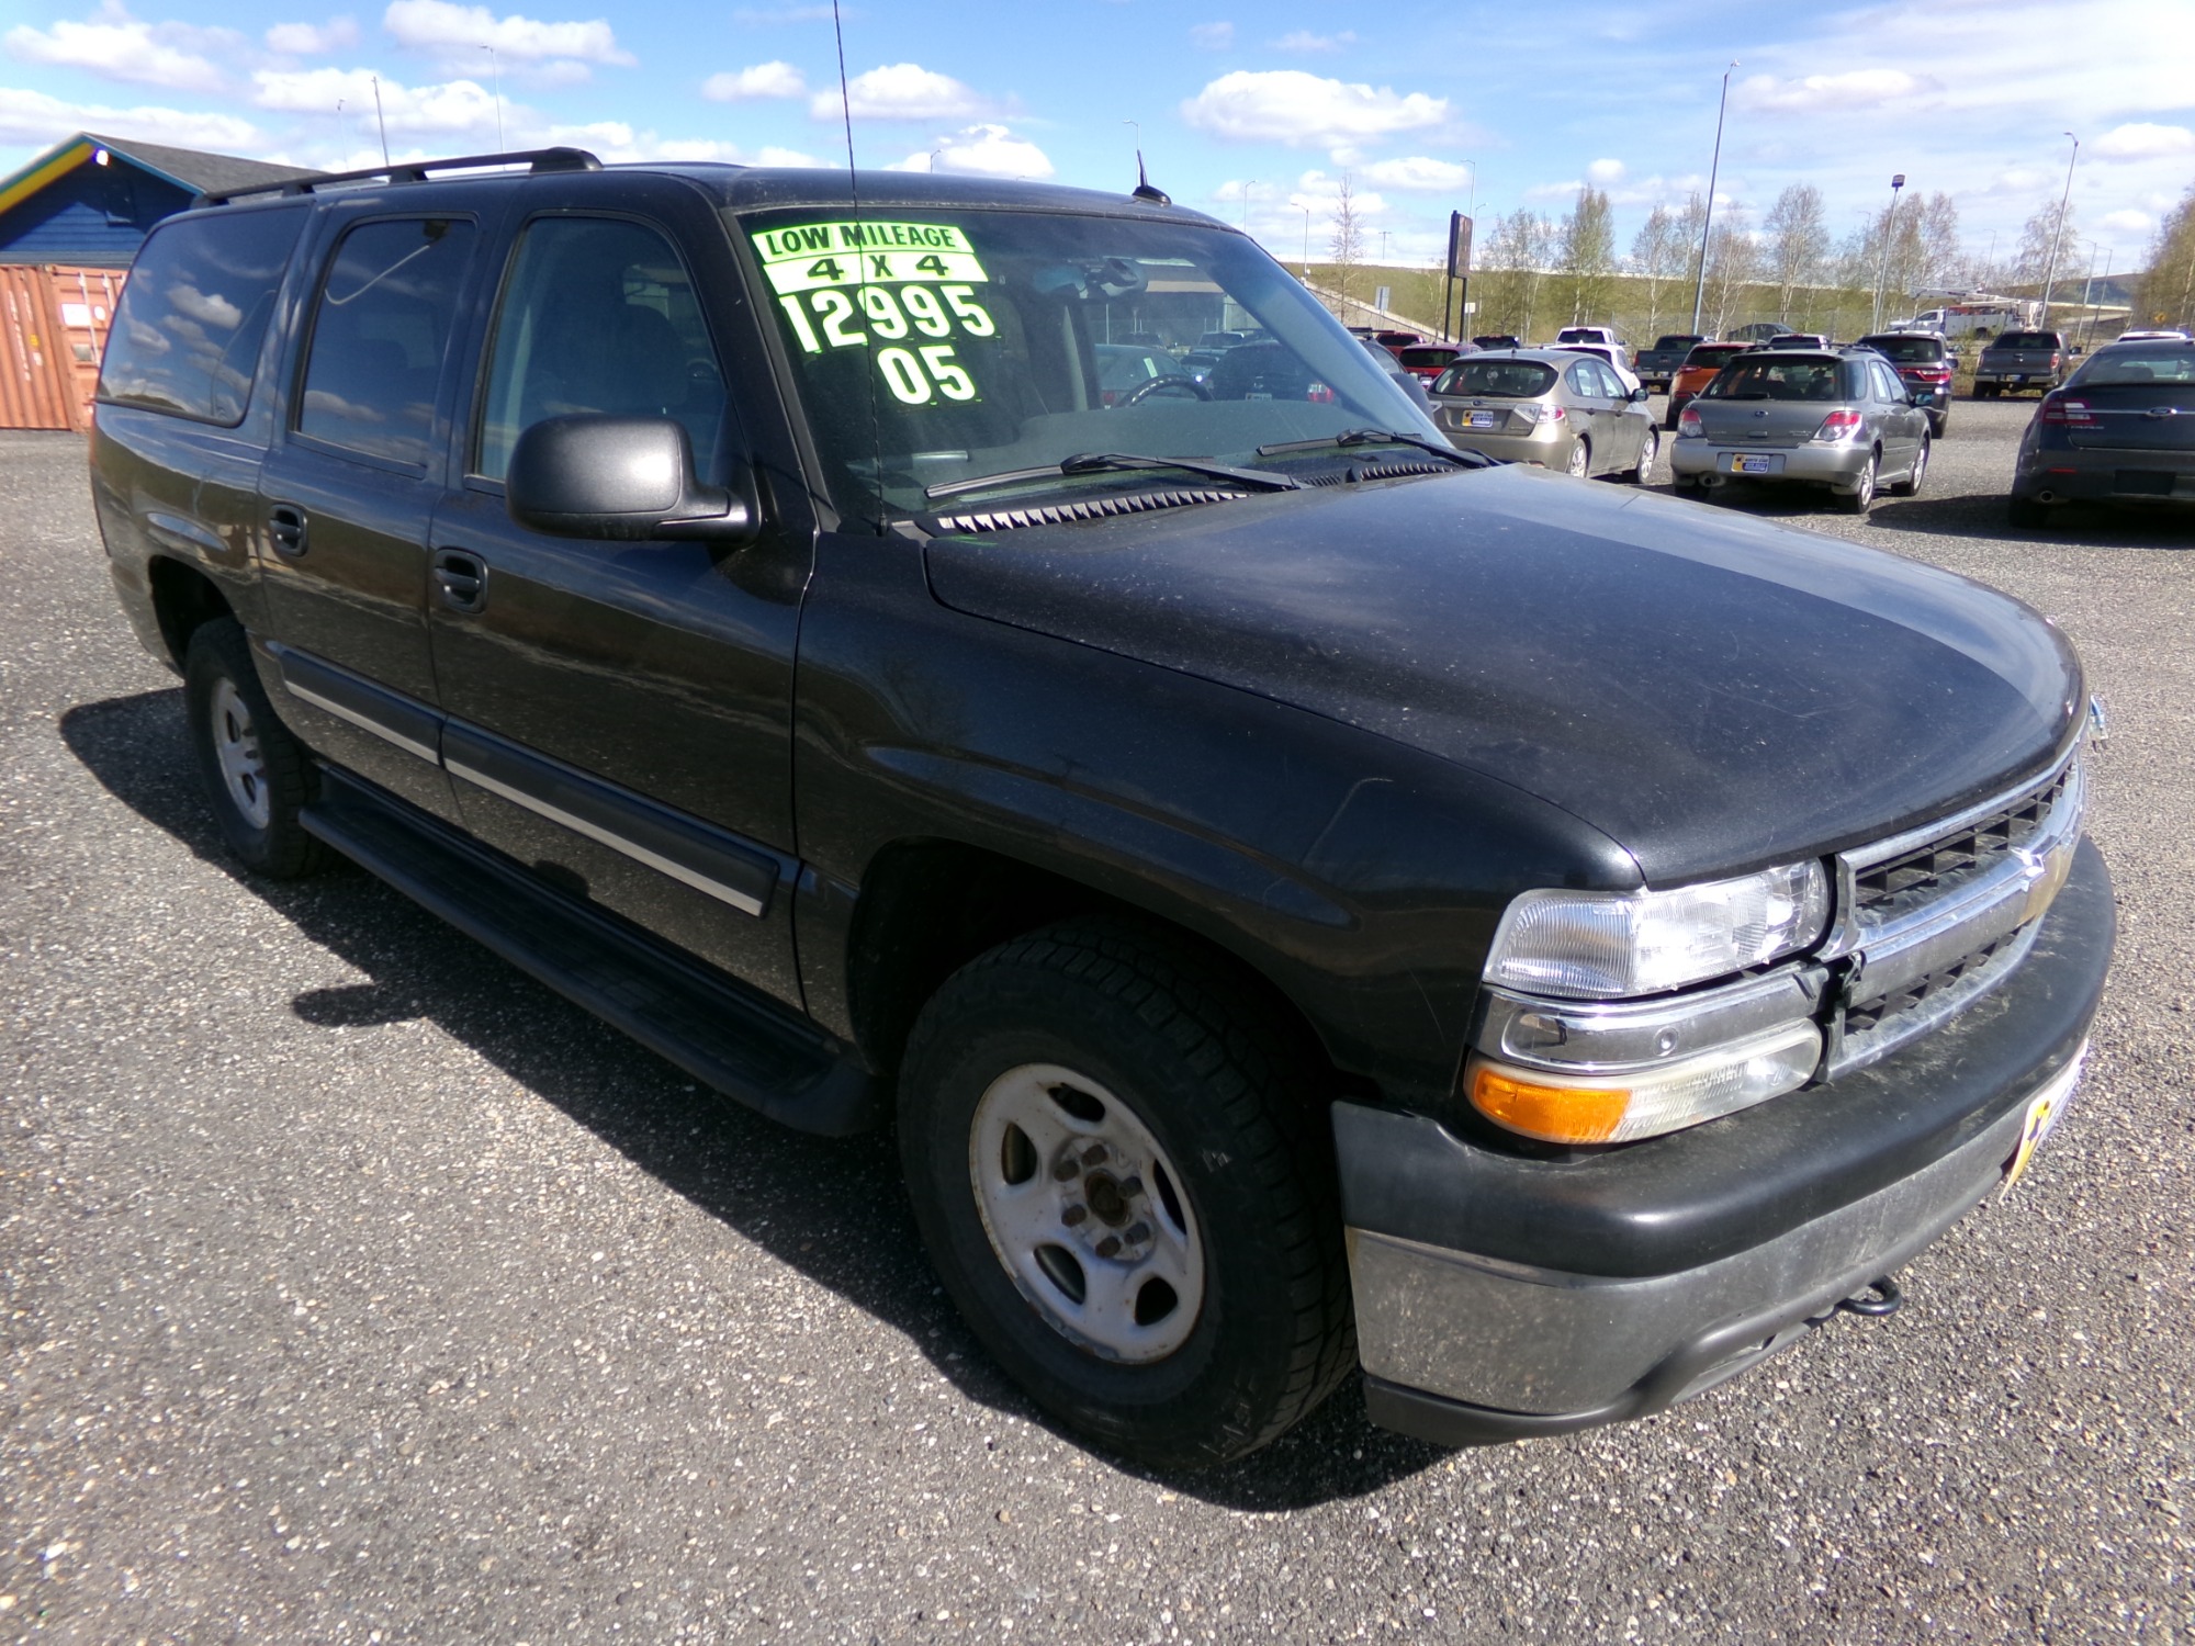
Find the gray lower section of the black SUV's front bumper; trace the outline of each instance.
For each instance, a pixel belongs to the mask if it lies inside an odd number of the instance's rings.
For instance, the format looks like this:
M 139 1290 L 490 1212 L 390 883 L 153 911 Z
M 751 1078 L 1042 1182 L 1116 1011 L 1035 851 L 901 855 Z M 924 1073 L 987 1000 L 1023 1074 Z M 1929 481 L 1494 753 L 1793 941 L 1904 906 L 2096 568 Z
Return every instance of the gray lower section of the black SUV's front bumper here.
M 1910 1179 L 1677 1275 L 1567 1275 L 1352 1229 L 1357 1343 L 1374 1405 L 1389 1407 L 1374 1418 L 1433 1440 L 1508 1440 L 1699 1394 L 1958 1222 L 2004 1179 L 2022 1119 L 2024 1106 L 2013 1108 Z M 1444 1433 L 1429 1433 L 1442 1407 Z M 1414 1409 L 1425 1418 L 1392 1420 Z

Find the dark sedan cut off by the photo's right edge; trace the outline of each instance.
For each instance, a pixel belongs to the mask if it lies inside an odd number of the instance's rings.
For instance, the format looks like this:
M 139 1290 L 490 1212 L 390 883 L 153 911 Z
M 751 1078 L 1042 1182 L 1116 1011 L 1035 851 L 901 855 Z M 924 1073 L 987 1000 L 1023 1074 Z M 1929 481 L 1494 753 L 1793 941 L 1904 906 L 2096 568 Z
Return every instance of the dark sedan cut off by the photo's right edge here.
M 2112 342 L 2044 395 L 2019 437 L 2011 520 L 2068 503 L 2195 505 L 2195 342 Z

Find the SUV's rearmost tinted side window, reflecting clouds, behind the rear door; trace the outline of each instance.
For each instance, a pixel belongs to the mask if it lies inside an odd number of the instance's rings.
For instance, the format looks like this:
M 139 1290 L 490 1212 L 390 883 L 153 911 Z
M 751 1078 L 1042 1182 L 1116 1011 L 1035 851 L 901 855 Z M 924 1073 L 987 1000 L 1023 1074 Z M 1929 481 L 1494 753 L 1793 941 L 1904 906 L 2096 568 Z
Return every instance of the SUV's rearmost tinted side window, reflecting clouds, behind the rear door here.
M 303 228 L 303 206 L 160 224 L 116 305 L 99 397 L 239 424 Z

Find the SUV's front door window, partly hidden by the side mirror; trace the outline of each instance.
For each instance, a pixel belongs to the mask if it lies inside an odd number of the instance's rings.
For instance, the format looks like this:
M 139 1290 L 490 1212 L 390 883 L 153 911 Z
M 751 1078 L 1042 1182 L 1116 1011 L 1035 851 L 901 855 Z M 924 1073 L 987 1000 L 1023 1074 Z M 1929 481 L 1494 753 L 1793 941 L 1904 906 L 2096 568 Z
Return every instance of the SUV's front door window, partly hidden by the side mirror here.
M 674 417 L 707 483 L 724 470 L 724 375 L 694 281 L 663 235 L 599 217 L 542 217 L 511 257 L 472 472 L 500 481 L 544 417 Z

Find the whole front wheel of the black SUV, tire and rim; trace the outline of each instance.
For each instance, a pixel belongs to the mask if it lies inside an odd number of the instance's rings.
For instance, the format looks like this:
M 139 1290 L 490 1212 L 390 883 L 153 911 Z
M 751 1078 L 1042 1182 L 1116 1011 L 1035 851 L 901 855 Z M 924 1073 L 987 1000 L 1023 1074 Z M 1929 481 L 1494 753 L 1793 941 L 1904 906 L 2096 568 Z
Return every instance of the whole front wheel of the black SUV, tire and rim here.
M 1150 1466 L 1240 1457 L 1354 1363 L 1310 1060 L 1227 972 L 1067 922 L 955 972 L 900 1073 L 915 1222 L 968 1326 Z

